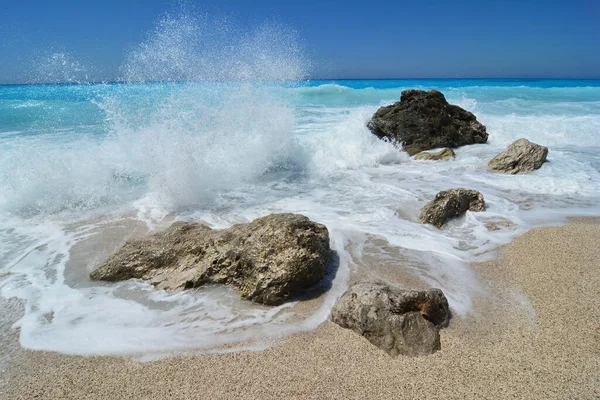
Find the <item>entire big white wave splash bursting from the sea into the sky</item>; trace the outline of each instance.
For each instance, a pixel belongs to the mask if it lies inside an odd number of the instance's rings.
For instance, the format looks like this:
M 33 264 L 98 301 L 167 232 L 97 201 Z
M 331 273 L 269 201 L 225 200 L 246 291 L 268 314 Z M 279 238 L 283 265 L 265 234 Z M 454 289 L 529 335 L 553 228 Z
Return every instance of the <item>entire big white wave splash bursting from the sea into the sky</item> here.
M 64 118 L 64 91 L 47 87 L 51 98 L 36 108 L 49 109 L 52 128 L 9 144 L 7 164 L 25 157 L 30 165 L 7 172 L 5 208 L 24 215 L 55 213 L 119 205 L 147 194 L 173 210 L 210 200 L 285 163 L 294 110 L 273 84 L 256 81 L 302 78 L 300 47 L 294 33 L 279 25 L 232 29 L 206 17 L 164 17 L 122 70 L 130 82 L 165 83 L 65 89 L 86 92 L 82 103 L 90 105 L 91 99 L 97 106 L 85 110 L 97 126 L 67 121 L 54 128 Z M 94 137 L 73 131 L 82 128 Z

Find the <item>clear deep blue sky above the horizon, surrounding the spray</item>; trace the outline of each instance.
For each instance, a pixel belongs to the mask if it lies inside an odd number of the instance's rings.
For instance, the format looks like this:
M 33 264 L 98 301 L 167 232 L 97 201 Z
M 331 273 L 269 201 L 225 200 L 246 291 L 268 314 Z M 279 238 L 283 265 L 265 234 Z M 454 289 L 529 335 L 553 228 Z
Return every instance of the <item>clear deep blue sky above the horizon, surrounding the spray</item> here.
M 126 55 L 182 7 L 240 31 L 294 29 L 313 79 L 600 78 L 598 0 L 0 0 L 0 83 L 43 80 L 48 55 L 118 80 Z

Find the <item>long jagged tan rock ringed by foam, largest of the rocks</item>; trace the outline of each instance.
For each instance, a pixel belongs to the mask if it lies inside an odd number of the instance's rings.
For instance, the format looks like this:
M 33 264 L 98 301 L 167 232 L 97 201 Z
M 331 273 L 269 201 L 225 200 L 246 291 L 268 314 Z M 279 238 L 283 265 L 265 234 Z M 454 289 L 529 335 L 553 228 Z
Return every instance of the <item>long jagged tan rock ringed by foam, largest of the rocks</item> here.
M 92 279 L 137 278 L 167 291 L 231 285 L 248 300 L 279 305 L 325 275 L 329 232 L 303 215 L 273 214 L 229 229 L 176 222 L 131 240 Z

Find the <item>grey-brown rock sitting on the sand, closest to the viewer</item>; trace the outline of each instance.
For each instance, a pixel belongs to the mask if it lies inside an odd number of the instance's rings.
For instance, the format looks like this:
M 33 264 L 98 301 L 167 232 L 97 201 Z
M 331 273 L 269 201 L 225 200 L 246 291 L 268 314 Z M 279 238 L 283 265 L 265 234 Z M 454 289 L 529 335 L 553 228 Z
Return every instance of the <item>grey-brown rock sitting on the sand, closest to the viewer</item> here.
M 432 354 L 448 326 L 448 300 L 439 289 L 404 290 L 382 281 L 360 282 L 338 300 L 331 320 L 392 356 Z

